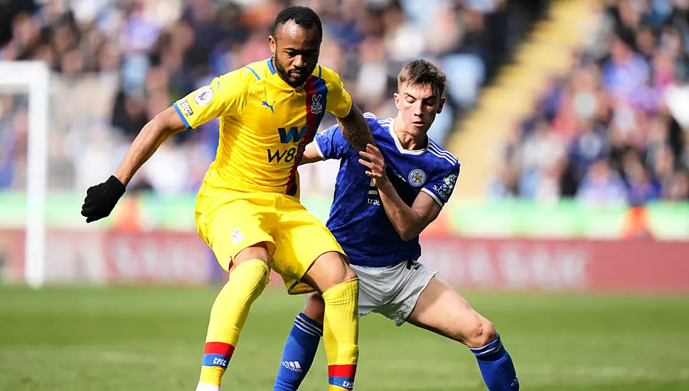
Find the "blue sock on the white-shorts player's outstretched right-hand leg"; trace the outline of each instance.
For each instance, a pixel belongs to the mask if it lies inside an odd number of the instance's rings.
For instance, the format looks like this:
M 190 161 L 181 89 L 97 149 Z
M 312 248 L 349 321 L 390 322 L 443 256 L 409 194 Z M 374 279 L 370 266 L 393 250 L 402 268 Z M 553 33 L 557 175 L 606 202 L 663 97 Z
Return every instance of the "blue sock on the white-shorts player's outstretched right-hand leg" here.
M 510 353 L 507 353 L 500 335 L 496 336 L 495 341 L 488 343 L 483 348 L 470 349 L 479 362 L 481 375 L 488 391 L 517 391 L 519 390 L 519 380 L 514 369 Z

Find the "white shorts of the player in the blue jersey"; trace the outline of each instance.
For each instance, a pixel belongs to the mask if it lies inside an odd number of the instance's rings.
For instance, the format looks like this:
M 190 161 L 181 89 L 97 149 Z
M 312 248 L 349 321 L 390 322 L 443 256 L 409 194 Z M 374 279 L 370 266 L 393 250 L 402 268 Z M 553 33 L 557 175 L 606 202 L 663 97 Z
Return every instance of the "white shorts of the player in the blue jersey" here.
M 359 316 L 378 312 L 397 326 L 405 323 L 419 296 L 437 274 L 415 260 L 388 267 L 351 267 L 359 277 Z

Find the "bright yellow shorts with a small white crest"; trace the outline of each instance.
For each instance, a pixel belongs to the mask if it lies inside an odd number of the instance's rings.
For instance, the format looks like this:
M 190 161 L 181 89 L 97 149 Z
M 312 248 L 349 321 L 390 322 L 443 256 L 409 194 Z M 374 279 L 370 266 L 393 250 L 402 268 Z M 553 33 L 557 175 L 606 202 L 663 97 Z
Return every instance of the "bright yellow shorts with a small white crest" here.
M 282 276 L 289 294 L 314 291 L 301 277 L 316 258 L 331 251 L 344 254 L 321 220 L 291 195 L 239 191 L 199 195 L 196 227 L 225 270 L 239 252 L 266 242 L 271 268 Z

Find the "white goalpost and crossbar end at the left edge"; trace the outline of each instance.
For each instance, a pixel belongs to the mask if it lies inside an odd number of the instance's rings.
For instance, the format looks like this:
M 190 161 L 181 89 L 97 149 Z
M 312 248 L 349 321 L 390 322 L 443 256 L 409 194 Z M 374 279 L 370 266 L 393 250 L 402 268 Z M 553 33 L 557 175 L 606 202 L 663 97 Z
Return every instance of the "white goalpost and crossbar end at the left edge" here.
M 46 262 L 50 70 L 39 61 L 0 61 L 0 88 L 28 94 L 24 278 L 38 289 L 45 280 Z

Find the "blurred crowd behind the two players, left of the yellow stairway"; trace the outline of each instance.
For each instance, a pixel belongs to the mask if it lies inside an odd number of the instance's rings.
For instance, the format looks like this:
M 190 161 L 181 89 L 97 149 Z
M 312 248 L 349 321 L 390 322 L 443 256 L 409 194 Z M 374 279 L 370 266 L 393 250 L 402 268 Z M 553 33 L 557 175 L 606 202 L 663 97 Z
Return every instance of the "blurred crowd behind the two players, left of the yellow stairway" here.
M 284 6 L 306 5 L 319 13 L 320 62 L 341 74 L 365 111 L 395 114 L 392 89 L 405 61 L 425 57 L 441 65 L 449 104 L 431 134 L 442 142 L 538 16 L 541 3 L 0 0 L 0 60 L 40 60 L 53 70 L 49 187 L 82 190 L 107 178 L 157 112 L 215 75 L 268 58 L 267 34 Z M 322 126 L 331 123 L 326 118 Z M 217 128 L 209 122 L 175 136 L 132 187 L 195 191 L 215 155 Z M 27 131 L 26 97 L 0 86 L 0 189 L 25 186 Z

